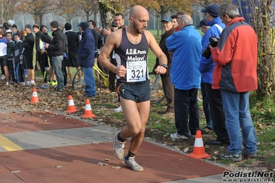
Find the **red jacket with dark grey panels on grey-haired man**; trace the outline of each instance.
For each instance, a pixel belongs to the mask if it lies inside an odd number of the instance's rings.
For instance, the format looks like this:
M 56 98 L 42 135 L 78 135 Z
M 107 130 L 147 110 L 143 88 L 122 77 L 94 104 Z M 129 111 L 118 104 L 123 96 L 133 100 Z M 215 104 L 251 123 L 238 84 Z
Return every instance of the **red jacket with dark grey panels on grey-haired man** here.
M 249 92 L 258 88 L 257 42 L 253 28 L 243 17 L 226 25 L 218 46 L 211 49 L 216 63 L 212 89 Z

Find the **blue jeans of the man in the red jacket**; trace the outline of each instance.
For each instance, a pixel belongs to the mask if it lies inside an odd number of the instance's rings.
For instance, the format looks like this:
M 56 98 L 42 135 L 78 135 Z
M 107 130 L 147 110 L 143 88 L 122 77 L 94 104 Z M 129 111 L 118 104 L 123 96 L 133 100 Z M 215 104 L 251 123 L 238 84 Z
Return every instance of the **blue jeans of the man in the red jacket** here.
M 242 134 L 245 151 L 256 153 L 257 138 L 252 118 L 249 111 L 249 92 L 230 92 L 221 89 L 225 125 L 230 138 L 229 153 L 241 153 Z M 240 129 L 241 127 L 241 129 Z

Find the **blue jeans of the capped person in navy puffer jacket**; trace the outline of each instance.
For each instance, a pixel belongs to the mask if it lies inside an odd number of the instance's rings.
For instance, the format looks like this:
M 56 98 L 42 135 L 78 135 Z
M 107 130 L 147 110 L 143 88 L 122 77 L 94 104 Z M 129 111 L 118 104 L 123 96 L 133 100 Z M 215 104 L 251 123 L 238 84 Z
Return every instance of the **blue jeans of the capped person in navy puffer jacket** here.
M 83 72 L 86 96 L 96 96 L 96 83 L 92 74 L 92 67 L 83 67 Z

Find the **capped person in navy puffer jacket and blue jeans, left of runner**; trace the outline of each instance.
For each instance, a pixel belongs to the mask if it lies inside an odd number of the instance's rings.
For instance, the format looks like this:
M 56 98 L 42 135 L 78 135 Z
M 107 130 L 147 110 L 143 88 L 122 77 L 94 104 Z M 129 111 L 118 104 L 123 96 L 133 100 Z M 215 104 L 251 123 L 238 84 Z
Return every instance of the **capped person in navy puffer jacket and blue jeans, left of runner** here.
M 79 42 L 79 65 L 83 68 L 85 94 L 87 97 L 96 96 L 96 83 L 92 74 L 92 67 L 94 66 L 94 36 L 92 30 L 88 29 L 87 22 L 81 22 L 79 25 L 81 31 L 81 41 Z

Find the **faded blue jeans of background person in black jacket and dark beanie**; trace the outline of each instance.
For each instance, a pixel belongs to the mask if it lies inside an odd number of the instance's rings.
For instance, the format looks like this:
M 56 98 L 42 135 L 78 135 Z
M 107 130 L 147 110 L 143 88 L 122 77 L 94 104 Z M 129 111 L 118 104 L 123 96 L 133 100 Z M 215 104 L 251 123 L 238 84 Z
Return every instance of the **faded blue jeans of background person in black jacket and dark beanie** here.
M 55 76 L 57 76 L 57 89 L 64 89 L 62 61 L 63 61 L 63 55 L 52 56 L 52 67 L 54 67 L 54 74 Z

